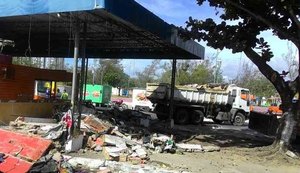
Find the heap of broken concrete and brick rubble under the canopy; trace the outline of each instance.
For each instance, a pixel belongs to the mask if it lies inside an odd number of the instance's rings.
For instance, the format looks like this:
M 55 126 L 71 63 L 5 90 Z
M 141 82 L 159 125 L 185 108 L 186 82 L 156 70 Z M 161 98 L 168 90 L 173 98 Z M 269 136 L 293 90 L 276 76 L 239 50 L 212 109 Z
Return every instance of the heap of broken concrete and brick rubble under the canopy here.
M 148 165 L 149 155 L 205 151 L 201 145 L 176 144 L 173 135 L 151 133 L 149 115 L 132 110 L 99 112 L 91 109 L 82 112 L 80 129 L 76 128 L 76 121 L 72 127 L 70 110 L 56 112 L 60 114 L 59 122 L 19 117 L 10 123 L 11 131 L 52 141 L 48 154 L 34 162 L 30 172 L 174 172 Z M 72 128 L 75 129 L 73 134 Z

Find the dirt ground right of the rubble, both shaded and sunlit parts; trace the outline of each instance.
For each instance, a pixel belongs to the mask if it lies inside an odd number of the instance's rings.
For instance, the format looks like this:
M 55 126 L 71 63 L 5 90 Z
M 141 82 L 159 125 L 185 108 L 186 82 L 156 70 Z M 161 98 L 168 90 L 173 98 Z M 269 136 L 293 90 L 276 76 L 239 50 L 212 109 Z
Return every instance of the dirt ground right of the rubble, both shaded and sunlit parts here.
M 156 127 L 157 128 L 157 127 Z M 163 127 L 162 127 L 163 128 Z M 164 128 L 165 131 L 166 128 Z M 161 129 L 163 130 L 163 129 Z M 220 146 L 219 152 L 166 154 L 153 153 L 150 159 L 165 167 L 194 173 L 299 173 L 300 160 L 273 155 L 273 139 L 247 126 L 175 126 L 177 142 Z M 269 152 L 270 151 L 270 152 Z

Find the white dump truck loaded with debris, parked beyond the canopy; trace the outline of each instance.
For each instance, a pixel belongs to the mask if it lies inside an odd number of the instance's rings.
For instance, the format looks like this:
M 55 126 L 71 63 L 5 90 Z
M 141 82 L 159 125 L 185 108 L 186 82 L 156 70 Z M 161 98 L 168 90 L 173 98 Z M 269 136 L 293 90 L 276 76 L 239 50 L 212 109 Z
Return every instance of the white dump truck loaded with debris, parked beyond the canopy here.
M 158 119 L 169 117 L 170 84 L 148 83 L 147 98 L 155 105 Z M 174 90 L 174 121 L 176 124 L 199 124 L 204 117 L 215 123 L 230 121 L 243 125 L 250 114 L 249 89 L 235 84 L 176 86 Z

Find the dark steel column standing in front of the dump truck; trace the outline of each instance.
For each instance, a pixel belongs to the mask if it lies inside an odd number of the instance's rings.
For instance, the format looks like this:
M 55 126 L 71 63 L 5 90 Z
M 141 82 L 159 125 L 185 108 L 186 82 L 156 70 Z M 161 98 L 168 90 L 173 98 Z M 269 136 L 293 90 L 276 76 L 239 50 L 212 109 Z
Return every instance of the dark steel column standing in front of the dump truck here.
M 177 60 L 173 59 L 172 63 L 172 78 L 171 78 L 171 96 L 170 96 L 170 127 L 174 127 L 174 89 L 175 89 L 175 80 L 176 80 L 176 64 Z

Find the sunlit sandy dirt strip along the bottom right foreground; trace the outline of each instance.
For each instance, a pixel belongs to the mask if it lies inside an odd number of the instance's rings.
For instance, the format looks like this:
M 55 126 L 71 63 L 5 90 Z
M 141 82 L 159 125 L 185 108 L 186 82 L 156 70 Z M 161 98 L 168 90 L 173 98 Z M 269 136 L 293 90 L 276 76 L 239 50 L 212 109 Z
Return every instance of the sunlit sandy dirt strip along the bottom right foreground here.
M 299 161 L 264 160 L 238 151 L 222 148 L 218 153 L 153 154 L 150 158 L 171 168 L 195 173 L 299 173 Z

